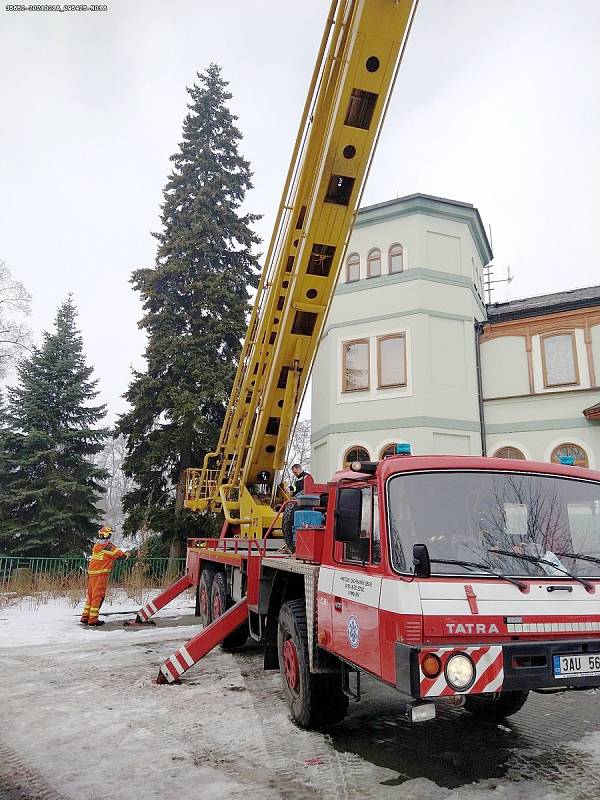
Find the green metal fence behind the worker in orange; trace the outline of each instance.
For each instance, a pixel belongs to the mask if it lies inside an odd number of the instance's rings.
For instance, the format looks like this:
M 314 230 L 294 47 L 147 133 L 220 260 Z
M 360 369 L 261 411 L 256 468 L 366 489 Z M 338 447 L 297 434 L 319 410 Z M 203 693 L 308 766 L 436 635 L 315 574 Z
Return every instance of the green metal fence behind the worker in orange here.
M 0 555 L 0 585 L 15 578 L 17 570 L 29 570 L 32 577 L 74 579 L 81 576 L 83 579 L 87 575 L 87 569 L 88 559 L 83 557 Z M 114 584 L 127 580 L 134 570 L 142 572 L 149 584 L 162 583 L 167 578 L 176 580 L 185 572 L 185 558 L 120 558 L 114 563 L 111 582 Z

